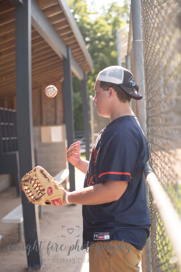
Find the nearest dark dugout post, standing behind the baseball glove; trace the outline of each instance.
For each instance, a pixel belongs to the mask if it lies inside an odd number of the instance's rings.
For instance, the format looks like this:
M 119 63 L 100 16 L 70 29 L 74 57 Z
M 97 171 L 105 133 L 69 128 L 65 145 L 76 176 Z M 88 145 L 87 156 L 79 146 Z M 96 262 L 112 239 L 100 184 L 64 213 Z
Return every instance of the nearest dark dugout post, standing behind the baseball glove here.
M 17 132 L 20 162 L 20 176 L 34 167 L 32 87 L 31 87 L 31 0 L 16 7 L 16 97 Z M 31 246 L 27 262 L 29 269 L 41 268 L 43 261 L 41 247 L 38 245 L 39 219 L 35 205 L 27 203 L 21 192 L 24 217 L 25 243 Z M 29 248 L 29 247 L 27 247 Z

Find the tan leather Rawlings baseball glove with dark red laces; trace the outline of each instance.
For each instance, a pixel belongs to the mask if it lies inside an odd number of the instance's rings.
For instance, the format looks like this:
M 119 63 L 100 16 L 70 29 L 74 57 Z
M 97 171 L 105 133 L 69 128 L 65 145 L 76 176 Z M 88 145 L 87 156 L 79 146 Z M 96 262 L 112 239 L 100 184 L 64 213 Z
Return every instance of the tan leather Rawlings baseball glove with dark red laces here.
M 54 206 L 65 204 L 63 186 L 41 166 L 36 166 L 22 177 L 20 190 L 24 191 L 28 203 Z

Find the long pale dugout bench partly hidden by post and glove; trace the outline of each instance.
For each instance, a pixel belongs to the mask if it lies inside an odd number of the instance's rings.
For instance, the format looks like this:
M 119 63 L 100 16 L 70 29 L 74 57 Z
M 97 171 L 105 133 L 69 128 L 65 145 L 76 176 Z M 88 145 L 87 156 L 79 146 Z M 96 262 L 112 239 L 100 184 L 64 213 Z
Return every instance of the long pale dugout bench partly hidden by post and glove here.
M 64 188 L 67 188 L 67 178 L 69 177 L 69 169 L 63 169 L 57 175 L 54 176 L 59 183 L 63 183 Z M 38 205 L 39 207 L 39 217 L 43 215 L 43 206 Z M 19 239 L 23 239 L 23 214 L 22 214 L 22 204 L 18 205 L 15 209 L 9 212 L 1 220 L 2 223 L 18 223 L 19 228 Z

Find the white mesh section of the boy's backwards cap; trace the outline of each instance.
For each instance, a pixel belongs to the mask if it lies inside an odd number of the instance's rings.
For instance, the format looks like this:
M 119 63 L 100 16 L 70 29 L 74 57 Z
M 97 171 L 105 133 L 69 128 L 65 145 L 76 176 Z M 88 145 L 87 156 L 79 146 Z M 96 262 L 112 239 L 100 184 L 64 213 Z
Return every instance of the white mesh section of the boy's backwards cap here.
M 96 80 L 122 84 L 124 80 L 124 69 L 121 66 L 109 66 L 99 72 Z

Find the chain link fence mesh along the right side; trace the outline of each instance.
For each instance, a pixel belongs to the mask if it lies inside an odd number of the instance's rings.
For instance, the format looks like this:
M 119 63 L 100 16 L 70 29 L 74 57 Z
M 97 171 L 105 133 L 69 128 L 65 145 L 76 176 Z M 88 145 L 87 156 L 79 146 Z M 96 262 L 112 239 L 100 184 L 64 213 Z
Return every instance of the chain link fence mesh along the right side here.
M 149 164 L 181 218 L 181 1 L 141 0 L 141 13 Z M 151 193 L 150 212 L 152 271 L 178 272 Z

